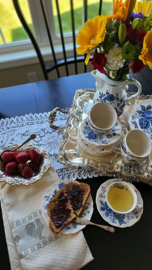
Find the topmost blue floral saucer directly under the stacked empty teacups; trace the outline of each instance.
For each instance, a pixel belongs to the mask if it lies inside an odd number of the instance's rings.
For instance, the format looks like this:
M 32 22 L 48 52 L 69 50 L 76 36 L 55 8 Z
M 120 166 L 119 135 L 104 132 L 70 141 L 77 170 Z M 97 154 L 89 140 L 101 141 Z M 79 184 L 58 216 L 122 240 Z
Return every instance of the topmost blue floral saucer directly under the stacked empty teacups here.
M 80 134 L 82 139 L 84 139 L 90 146 L 106 148 L 119 141 L 121 136 L 121 124 L 117 121 L 111 130 L 92 130 L 86 118 L 80 126 Z

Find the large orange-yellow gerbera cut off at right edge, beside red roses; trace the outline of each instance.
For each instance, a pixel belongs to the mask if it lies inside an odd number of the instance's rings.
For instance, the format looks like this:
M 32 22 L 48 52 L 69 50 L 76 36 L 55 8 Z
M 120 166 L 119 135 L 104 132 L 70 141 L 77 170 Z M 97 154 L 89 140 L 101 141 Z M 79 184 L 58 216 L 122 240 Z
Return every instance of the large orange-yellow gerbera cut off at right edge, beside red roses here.
M 143 49 L 139 59 L 143 61 L 144 65 L 148 65 L 152 69 L 152 29 L 144 37 Z

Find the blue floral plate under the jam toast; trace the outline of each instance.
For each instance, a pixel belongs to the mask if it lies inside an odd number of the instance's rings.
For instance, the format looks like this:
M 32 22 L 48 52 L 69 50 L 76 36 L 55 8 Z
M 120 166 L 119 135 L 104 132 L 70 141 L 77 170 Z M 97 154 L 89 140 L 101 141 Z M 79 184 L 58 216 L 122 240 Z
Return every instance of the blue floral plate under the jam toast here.
M 41 205 L 41 210 L 42 210 L 42 217 L 44 218 L 46 224 L 49 226 L 49 217 L 48 217 L 48 212 L 47 212 L 47 206 L 48 203 L 55 197 L 55 194 L 67 183 L 70 182 L 75 182 L 75 183 L 79 183 L 77 181 L 72 181 L 72 180 L 66 180 L 66 181 L 58 181 L 56 183 L 54 183 L 51 187 L 49 187 L 46 192 L 45 195 L 43 196 L 42 199 L 42 205 Z M 85 219 L 90 220 L 93 214 L 93 200 L 91 197 L 91 194 L 87 200 L 86 203 L 86 207 L 85 210 L 83 212 L 83 214 L 80 217 L 83 217 Z M 62 231 L 62 234 L 74 234 L 75 232 L 78 232 L 80 230 L 82 230 L 83 228 L 85 228 L 86 225 L 81 225 L 78 224 L 76 222 L 72 222 L 69 225 L 67 225 Z

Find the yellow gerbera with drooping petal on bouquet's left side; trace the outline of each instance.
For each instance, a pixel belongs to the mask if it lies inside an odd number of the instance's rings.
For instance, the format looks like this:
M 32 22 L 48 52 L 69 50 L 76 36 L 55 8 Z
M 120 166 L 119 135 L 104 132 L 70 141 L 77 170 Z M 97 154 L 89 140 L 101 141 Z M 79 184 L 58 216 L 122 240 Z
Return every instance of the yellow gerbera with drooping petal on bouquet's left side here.
M 77 35 L 76 43 L 80 45 L 80 47 L 78 47 L 76 51 L 78 54 L 82 55 L 87 53 L 85 59 L 86 65 L 89 62 L 91 50 L 96 48 L 104 40 L 106 22 L 105 16 L 96 16 L 88 20 Z

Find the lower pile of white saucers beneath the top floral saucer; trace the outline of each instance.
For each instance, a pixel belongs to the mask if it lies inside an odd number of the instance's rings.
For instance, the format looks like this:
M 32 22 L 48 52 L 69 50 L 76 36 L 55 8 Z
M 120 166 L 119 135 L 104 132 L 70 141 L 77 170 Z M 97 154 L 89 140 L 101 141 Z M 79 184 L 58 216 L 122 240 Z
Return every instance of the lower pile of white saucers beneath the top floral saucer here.
M 80 146 L 83 148 L 83 150 L 87 151 L 88 153 L 96 155 L 96 156 L 105 156 L 105 155 L 109 155 L 113 153 L 115 147 L 119 146 L 121 142 L 121 137 L 119 141 L 113 146 L 106 147 L 106 148 L 97 148 L 97 147 L 90 146 L 82 139 L 81 134 L 80 134 L 80 129 L 79 129 L 78 134 L 77 134 L 77 140 Z

